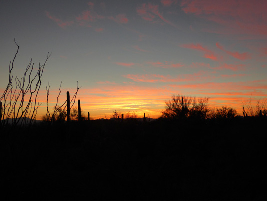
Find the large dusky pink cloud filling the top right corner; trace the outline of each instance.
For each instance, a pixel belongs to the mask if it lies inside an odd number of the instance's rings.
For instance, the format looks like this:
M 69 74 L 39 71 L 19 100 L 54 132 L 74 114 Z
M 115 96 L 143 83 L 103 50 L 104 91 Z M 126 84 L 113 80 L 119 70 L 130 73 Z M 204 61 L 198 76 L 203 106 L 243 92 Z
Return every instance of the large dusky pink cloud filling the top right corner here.
M 181 6 L 187 14 L 194 14 L 224 26 L 216 32 L 267 35 L 265 0 L 183 0 Z

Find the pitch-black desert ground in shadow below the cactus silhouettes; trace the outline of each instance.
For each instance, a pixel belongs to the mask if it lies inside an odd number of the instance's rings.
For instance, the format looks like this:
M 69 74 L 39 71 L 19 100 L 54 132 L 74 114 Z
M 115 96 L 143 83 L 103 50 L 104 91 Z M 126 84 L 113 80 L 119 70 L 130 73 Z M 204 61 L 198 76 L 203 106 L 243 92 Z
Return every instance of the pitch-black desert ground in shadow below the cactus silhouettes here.
M 2 200 L 266 200 L 264 121 L 0 130 Z

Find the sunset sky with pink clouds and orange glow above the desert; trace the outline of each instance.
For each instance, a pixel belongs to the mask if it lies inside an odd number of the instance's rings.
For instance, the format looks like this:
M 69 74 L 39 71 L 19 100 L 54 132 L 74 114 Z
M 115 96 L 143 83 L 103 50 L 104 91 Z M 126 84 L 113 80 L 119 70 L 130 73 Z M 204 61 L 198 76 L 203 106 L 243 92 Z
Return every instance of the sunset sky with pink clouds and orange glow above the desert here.
M 51 53 L 37 118 L 72 96 L 94 119 L 145 112 L 157 118 L 174 94 L 210 107 L 267 97 L 266 0 L 0 1 L 0 94 Z

